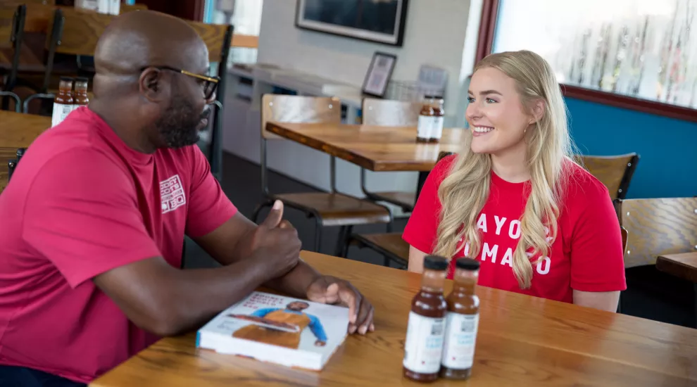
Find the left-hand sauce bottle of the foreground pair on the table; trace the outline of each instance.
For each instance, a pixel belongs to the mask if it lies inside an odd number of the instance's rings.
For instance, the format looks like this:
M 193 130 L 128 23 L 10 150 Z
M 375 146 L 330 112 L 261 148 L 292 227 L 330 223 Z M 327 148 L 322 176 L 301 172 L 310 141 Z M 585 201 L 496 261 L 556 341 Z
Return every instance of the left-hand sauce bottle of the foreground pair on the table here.
M 402 362 L 404 376 L 415 381 L 438 379 L 448 307 L 443 295 L 447 269 L 445 258 L 424 258 L 421 290 L 412 300 Z

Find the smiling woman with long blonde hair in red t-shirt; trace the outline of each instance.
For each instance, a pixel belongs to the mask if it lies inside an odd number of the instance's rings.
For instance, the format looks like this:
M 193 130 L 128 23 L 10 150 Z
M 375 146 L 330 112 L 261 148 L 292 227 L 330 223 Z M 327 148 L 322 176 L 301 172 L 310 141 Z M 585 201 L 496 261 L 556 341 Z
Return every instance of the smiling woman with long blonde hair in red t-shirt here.
M 617 310 L 620 224 L 608 189 L 569 158 L 551 67 L 530 51 L 487 56 L 468 99 L 472 135 L 434 167 L 404 230 L 408 269 L 422 272 L 427 253 L 467 256 L 482 286 Z

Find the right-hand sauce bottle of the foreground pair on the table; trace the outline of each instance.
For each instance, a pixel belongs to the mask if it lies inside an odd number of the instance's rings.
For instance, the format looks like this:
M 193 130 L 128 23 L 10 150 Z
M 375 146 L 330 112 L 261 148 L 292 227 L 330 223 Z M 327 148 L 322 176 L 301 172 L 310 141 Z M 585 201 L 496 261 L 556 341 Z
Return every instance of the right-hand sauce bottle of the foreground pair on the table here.
M 440 375 L 446 379 L 468 379 L 472 374 L 479 324 L 479 297 L 475 294 L 479 261 L 456 261 L 453 291 L 446 297 L 445 343 Z

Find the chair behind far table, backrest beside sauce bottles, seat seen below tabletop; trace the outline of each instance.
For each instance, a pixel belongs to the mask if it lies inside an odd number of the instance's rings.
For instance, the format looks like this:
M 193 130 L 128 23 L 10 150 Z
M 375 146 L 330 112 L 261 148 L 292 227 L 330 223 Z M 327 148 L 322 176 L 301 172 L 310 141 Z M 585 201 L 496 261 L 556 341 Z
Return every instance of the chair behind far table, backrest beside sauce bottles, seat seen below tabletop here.
M 415 127 L 419 122 L 420 102 L 394 101 L 389 99 L 363 99 L 363 125 L 389 127 Z M 404 212 L 412 212 L 416 202 L 414 191 L 373 192 L 366 186 L 367 171 L 360 168 L 360 189 L 370 201 L 398 205 Z

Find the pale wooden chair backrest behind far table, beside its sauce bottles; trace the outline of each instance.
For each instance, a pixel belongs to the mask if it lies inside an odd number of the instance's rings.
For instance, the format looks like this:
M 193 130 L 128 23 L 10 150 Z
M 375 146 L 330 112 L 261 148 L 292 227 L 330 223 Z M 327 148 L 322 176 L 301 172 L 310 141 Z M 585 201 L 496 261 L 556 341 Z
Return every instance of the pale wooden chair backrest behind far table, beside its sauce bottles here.
M 363 99 L 363 125 L 413 127 L 419 122 L 420 102 Z

